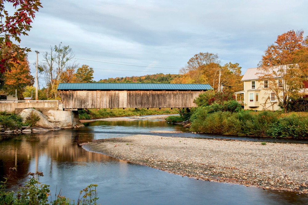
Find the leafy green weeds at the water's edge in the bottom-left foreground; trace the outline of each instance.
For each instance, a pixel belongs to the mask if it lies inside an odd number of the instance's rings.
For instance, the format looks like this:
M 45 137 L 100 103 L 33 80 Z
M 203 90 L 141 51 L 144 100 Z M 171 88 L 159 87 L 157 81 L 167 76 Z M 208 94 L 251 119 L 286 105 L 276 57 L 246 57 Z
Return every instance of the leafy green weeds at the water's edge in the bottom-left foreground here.
M 6 187 L 8 179 L 12 173 L 16 171 L 16 168 L 10 168 L 9 175 L 4 178 L 5 181 L 0 182 L 0 205 L 96 205 L 96 201 L 99 199 L 96 192 L 97 185 L 90 184 L 79 192 L 77 203 L 65 196 L 61 196 L 61 191 L 58 195 L 56 194 L 55 199 L 52 200 L 49 185 L 39 182 L 39 177 L 43 177 L 43 172 L 39 171 L 36 173 L 29 172 L 28 181 L 26 181 L 24 186 L 18 188 L 17 195 L 15 195 L 14 191 L 6 191 Z M 50 203 L 48 202 L 49 200 L 51 200 Z

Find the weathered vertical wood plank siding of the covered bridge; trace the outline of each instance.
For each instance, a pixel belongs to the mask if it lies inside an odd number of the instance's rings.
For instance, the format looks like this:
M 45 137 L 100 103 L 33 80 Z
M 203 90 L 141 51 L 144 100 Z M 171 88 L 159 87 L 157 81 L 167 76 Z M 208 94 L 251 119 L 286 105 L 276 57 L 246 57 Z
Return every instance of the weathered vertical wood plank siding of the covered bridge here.
M 63 108 L 191 108 L 203 91 L 58 91 Z

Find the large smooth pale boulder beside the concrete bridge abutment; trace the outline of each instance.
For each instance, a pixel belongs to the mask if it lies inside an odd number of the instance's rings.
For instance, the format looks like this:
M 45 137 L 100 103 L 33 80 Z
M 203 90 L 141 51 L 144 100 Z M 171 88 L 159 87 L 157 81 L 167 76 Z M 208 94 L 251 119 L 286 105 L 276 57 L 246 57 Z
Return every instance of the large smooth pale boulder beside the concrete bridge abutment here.
M 47 120 L 47 117 L 45 115 L 43 115 L 43 113 L 33 109 L 33 108 L 27 108 L 22 110 L 19 115 L 22 117 L 22 121 L 26 122 L 26 118 L 30 115 L 31 112 L 36 113 L 39 117 L 40 120 L 36 123 L 36 127 L 38 128 L 46 128 L 48 130 L 59 130 L 61 128 L 59 128 L 58 126 L 56 126 L 55 124 L 49 122 Z

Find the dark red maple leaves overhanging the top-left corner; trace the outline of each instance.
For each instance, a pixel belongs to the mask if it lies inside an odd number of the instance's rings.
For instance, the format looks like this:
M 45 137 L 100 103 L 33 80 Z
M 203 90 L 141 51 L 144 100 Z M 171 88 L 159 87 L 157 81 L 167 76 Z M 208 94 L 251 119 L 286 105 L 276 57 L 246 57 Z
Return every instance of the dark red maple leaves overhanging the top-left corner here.
M 12 15 L 4 6 L 12 5 Z M 30 49 L 12 47 L 12 39 L 20 42 L 21 35 L 28 35 L 30 24 L 42 5 L 40 0 L 0 0 L 0 73 L 23 61 Z M 11 55 L 14 53 L 14 55 Z

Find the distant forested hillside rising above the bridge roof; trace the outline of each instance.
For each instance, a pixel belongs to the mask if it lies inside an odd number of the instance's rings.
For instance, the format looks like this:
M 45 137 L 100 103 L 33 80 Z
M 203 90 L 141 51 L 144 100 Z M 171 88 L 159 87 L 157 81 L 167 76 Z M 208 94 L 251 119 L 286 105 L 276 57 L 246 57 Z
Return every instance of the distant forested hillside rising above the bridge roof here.
M 180 78 L 179 74 L 163 74 L 157 73 L 145 76 L 132 76 L 132 77 L 116 77 L 101 79 L 99 83 L 170 83 L 175 78 Z

